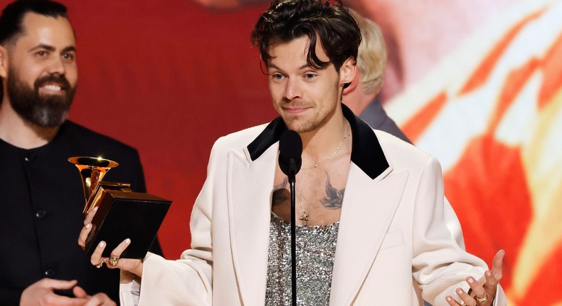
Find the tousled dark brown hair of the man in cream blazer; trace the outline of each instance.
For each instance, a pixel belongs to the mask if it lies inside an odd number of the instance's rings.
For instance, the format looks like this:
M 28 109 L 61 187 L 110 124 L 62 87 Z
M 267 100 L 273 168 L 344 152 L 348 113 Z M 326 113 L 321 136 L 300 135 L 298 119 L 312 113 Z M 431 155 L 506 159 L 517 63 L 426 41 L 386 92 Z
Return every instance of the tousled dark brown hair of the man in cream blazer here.
M 250 36 L 253 46 L 260 48 L 265 65 L 272 57 L 269 48 L 307 36 L 307 63 L 312 68 L 325 68 L 330 63 L 339 71 L 348 58 L 357 58 L 361 31 L 354 17 L 336 0 L 274 0 L 261 14 Z M 319 60 L 316 45 L 319 39 L 329 61 Z

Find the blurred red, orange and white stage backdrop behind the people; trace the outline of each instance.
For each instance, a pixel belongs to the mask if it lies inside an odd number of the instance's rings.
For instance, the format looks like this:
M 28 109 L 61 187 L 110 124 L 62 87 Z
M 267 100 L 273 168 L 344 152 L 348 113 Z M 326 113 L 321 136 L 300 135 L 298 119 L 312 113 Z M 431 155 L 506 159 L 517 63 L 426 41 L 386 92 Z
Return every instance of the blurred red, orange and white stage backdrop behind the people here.
M 70 119 L 139 149 L 149 192 L 174 201 L 159 238 L 179 258 L 214 140 L 276 115 L 249 41 L 267 3 L 61 2 L 78 43 Z M 442 163 L 467 250 L 507 251 L 509 305 L 562 305 L 562 1 L 346 4 L 382 28 L 381 100 Z

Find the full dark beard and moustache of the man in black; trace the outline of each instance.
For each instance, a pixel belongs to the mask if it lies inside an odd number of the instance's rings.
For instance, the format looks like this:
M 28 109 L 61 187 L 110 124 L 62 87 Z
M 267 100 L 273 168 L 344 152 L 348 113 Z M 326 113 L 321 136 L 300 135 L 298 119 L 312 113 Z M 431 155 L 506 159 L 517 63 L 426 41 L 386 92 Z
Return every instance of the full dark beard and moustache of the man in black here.
M 76 87 L 71 87 L 64 75 L 46 75 L 38 78 L 33 88 L 19 80 L 17 73 L 8 73 L 5 94 L 11 107 L 24 120 L 39 127 L 58 127 L 68 117 Z M 65 95 L 40 95 L 39 88 L 46 83 L 57 83 Z

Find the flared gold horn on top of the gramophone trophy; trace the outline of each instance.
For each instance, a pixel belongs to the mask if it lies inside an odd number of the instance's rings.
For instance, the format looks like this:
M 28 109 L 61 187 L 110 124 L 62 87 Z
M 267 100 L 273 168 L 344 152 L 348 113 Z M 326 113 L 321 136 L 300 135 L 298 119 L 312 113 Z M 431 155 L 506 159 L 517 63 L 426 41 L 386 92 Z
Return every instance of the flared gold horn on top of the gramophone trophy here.
M 92 193 L 95 191 L 97 184 L 100 184 L 103 176 L 110 169 L 119 166 L 117 162 L 101 157 L 70 157 L 68 162 L 73 163 L 80 171 L 82 178 L 82 186 L 84 188 L 85 206 L 83 213 L 90 211 L 90 201 L 92 201 Z

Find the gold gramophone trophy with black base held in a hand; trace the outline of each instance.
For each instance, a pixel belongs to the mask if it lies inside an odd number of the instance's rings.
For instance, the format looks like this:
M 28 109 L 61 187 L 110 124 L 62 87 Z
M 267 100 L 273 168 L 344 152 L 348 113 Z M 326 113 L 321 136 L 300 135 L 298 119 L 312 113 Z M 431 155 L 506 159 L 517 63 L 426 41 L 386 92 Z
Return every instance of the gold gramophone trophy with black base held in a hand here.
M 111 251 L 124 239 L 132 243 L 121 258 L 144 258 L 156 238 L 171 201 L 152 194 L 134 192 L 128 183 L 102 181 L 117 162 L 102 157 L 70 157 L 80 171 L 84 189 L 84 213 L 97 207 L 92 218 L 92 229 L 85 241 L 85 253 L 92 255 L 100 241 L 107 247 L 102 256 L 110 257 Z

